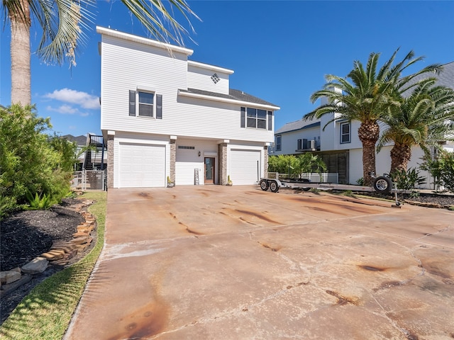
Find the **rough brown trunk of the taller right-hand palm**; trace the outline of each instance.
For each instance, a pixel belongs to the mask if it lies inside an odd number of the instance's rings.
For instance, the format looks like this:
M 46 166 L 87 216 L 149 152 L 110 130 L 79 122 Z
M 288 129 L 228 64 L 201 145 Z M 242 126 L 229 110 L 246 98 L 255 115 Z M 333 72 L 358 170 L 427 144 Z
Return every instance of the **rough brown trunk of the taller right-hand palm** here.
M 362 178 L 365 186 L 372 186 L 371 174 L 375 169 L 375 143 L 380 136 L 380 127 L 375 121 L 362 122 L 358 129 L 358 137 L 362 142 Z

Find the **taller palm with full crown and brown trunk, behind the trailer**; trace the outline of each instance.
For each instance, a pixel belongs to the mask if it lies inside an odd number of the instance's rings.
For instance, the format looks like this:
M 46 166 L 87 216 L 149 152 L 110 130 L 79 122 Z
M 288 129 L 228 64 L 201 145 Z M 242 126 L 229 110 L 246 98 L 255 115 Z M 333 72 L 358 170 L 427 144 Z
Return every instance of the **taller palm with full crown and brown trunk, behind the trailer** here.
M 408 91 L 414 86 L 410 82 L 411 79 L 440 67 L 438 64 L 429 65 L 416 74 L 402 77 L 405 69 L 419 62 L 423 57 L 415 58 L 414 52 L 410 51 L 401 62 L 393 66 L 398 51 L 399 49 L 394 51 L 392 57 L 378 72 L 380 53 L 370 54 L 366 68 L 359 61 L 353 62 L 353 69 L 347 76 L 353 84 L 345 78 L 332 74 L 326 76 L 327 83 L 322 90 L 311 95 L 311 101 L 314 103 L 317 99 L 326 97 L 328 103 L 304 115 L 304 119 L 310 120 L 333 114 L 333 118 L 328 123 L 337 119 L 360 122 L 358 137 L 362 142 L 362 172 L 365 185 L 372 184 L 371 174 L 376 172 L 375 144 L 380 137 L 378 121 L 387 113 L 390 106 L 399 105 L 392 96 L 392 92 L 395 89 Z

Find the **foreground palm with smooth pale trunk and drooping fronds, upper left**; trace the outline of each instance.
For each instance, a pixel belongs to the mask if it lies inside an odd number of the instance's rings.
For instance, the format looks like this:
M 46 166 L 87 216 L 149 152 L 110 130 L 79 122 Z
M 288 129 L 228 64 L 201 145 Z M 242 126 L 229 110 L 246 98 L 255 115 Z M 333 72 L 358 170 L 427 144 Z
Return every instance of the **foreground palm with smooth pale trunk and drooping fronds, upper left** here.
M 183 44 L 187 30 L 173 18 L 162 0 L 121 1 L 157 40 Z M 198 18 L 185 0 L 169 0 L 170 8 Z M 37 55 L 43 62 L 75 65 L 76 50 L 87 39 L 94 0 L 3 0 L 5 20 L 11 23 L 11 104 L 31 103 L 31 18 L 42 28 Z M 168 27 L 168 28 L 166 28 Z M 192 28 L 192 26 L 191 26 Z

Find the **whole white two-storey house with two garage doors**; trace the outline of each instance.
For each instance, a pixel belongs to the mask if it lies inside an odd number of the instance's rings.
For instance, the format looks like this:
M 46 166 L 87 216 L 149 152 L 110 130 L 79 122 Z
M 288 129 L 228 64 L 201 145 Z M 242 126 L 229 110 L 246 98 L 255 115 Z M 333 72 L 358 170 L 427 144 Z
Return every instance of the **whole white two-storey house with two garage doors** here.
M 278 106 L 230 89 L 231 69 L 193 50 L 97 27 L 108 188 L 254 184 Z

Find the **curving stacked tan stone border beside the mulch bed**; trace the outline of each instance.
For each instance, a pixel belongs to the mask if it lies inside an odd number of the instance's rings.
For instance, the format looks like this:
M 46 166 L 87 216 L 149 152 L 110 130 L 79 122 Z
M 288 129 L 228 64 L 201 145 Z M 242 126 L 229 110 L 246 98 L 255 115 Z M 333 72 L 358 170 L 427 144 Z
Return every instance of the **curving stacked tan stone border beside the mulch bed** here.
M 96 219 L 84 209 L 93 203 L 93 200 L 83 200 L 74 206 L 74 210 L 84 217 L 85 222 L 77 226 L 77 232 L 72 234 L 71 241 L 54 242 L 48 251 L 21 268 L 0 272 L 0 297 L 9 295 L 21 285 L 28 283 L 34 275 L 43 273 L 48 266 L 67 266 L 70 259 L 87 250 L 93 241 L 92 232 L 96 229 Z

